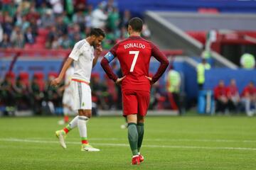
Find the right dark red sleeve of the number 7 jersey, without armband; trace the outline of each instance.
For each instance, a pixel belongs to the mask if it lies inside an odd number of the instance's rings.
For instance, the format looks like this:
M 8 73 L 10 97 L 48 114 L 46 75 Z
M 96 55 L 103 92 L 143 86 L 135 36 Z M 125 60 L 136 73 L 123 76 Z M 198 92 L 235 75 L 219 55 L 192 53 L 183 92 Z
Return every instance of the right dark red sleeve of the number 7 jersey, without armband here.
M 156 74 L 152 77 L 153 83 L 158 81 L 162 74 L 164 74 L 166 68 L 168 67 L 169 61 L 167 57 L 159 50 L 156 45 L 151 43 L 151 55 L 156 58 L 157 61 L 160 62 L 159 69 L 157 69 Z

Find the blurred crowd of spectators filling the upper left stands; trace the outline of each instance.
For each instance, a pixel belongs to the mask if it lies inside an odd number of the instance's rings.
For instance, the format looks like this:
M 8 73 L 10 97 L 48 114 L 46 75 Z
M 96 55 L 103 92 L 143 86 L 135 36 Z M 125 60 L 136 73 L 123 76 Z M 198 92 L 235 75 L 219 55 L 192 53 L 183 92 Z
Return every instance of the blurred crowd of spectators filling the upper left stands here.
M 85 38 L 91 28 L 102 28 L 107 33 L 102 46 L 110 49 L 128 37 L 127 22 L 131 18 L 129 11 L 119 12 L 114 0 L 95 7 L 86 0 L 4 0 L 0 1 L 0 10 L 1 48 L 67 49 Z M 142 35 L 151 35 L 146 25 Z

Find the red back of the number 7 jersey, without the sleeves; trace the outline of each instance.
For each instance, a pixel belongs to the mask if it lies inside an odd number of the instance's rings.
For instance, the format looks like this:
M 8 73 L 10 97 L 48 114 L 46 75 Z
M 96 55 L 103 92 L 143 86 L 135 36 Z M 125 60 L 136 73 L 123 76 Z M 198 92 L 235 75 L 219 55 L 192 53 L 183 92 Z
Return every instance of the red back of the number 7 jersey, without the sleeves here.
M 131 36 L 119 42 L 115 48 L 120 62 L 122 74 L 122 89 L 150 90 L 150 82 L 145 76 L 149 76 L 149 62 L 152 48 L 151 42 L 139 36 Z

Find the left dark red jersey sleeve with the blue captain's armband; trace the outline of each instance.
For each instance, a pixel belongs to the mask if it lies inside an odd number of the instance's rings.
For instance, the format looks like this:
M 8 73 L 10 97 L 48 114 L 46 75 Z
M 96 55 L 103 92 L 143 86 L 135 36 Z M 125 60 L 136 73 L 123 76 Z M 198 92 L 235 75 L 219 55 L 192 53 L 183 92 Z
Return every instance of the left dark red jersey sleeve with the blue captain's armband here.
M 112 71 L 111 67 L 110 67 L 110 62 L 112 60 L 114 60 L 114 57 L 117 56 L 117 48 L 118 45 L 114 45 L 114 47 L 112 47 L 112 49 L 107 52 L 107 54 L 105 55 L 105 57 L 103 57 L 102 61 L 100 62 L 102 68 L 104 69 L 104 71 L 107 74 L 107 77 L 109 77 L 110 79 L 112 79 L 113 81 L 117 81 L 118 77 L 116 74 L 114 74 L 114 72 Z

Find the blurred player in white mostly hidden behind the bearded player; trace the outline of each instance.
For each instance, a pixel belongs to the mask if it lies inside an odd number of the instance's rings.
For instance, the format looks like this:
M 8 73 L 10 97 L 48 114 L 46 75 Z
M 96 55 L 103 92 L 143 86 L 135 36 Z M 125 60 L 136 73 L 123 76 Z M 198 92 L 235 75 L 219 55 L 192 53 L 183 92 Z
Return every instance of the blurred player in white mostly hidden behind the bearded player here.
M 74 67 L 70 65 L 70 67 L 67 69 L 67 72 L 65 72 L 65 84 L 61 88 L 64 90 L 63 93 L 63 114 L 64 119 L 58 121 L 59 125 L 64 125 L 65 123 L 68 123 L 69 115 L 75 113 L 74 109 L 74 100 L 72 97 L 72 87 L 70 86 L 72 76 L 75 72 Z

